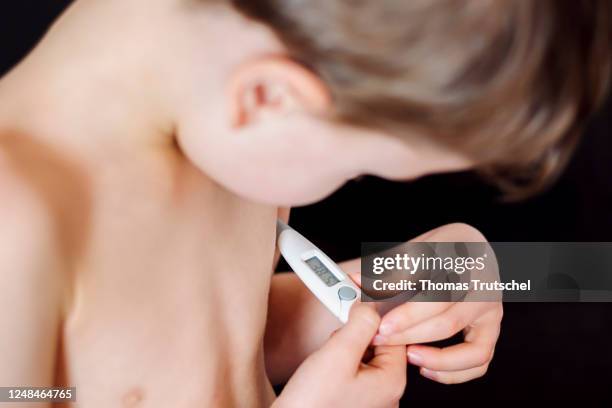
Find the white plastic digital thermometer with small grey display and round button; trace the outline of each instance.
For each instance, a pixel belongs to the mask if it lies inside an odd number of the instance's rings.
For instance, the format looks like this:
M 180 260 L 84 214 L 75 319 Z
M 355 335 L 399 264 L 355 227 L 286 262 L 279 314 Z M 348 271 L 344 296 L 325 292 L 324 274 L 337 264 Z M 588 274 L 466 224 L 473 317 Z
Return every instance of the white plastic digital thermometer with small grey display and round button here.
M 276 242 L 295 274 L 330 312 L 346 323 L 351 306 L 361 294 L 351 278 L 312 242 L 280 220 L 276 223 Z

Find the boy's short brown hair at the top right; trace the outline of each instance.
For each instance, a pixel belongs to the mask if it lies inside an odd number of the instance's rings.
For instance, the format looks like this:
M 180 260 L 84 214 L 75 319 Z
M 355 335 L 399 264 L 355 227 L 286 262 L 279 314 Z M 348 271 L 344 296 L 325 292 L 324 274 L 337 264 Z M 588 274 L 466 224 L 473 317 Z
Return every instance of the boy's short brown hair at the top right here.
M 334 117 L 418 129 L 506 193 L 567 162 L 610 74 L 608 0 L 232 0 L 334 98 Z

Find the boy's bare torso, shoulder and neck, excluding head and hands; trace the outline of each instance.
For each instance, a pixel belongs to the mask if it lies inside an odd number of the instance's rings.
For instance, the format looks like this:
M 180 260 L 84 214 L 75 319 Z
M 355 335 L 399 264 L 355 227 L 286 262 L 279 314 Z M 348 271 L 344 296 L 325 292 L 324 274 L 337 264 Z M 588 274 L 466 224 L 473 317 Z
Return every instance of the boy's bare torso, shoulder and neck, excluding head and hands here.
M 277 210 L 193 166 L 148 61 L 117 57 L 143 38 L 106 22 L 133 9 L 134 29 L 142 5 L 77 2 L 0 80 L 0 384 L 76 386 L 86 407 L 268 406 Z

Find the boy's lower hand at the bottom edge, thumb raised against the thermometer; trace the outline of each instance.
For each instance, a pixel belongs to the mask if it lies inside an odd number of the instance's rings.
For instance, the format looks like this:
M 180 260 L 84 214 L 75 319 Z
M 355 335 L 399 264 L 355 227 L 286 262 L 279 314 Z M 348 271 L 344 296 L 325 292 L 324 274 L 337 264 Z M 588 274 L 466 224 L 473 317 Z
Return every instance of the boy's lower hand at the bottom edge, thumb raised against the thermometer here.
M 363 363 L 380 317 L 356 303 L 347 324 L 298 368 L 274 407 L 392 407 L 406 385 L 406 347 L 378 346 Z

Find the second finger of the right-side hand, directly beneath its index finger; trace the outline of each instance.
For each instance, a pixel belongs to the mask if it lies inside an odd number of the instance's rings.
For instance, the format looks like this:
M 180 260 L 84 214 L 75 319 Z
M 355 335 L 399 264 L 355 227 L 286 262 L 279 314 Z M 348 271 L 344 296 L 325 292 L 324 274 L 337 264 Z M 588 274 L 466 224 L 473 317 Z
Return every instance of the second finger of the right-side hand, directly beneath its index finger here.
M 491 307 L 489 303 L 455 303 L 428 320 L 401 333 L 387 336 L 386 344 L 418 344 L 447 339 L 459 333 Z

